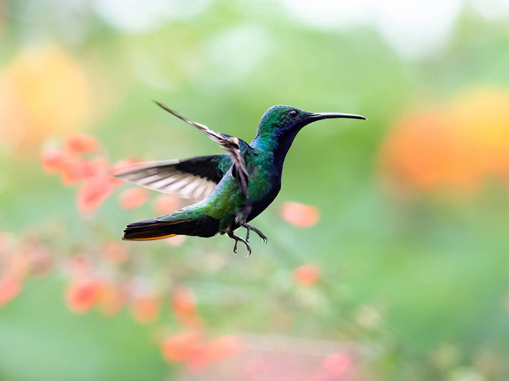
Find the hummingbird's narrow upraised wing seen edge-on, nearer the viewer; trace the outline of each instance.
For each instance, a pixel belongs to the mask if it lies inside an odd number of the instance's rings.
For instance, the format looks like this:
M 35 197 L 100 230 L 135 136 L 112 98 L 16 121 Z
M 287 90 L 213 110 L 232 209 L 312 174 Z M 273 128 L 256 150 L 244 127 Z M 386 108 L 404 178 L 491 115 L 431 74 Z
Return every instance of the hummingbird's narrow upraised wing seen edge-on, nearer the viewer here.
M 161 107 L 162 109 L 166 110 L 167 112 L 175 115 L 176 117 L 182 119 L 186 123 L 189 123 L 196 127 L 197 129 L 203 131 L 205 134 L 209 136 L 213 141 L 218 143 L 224 150 L 226 150 L 230 156 L 232 157 L 232 175 L 237 179 L 239 183 L 239 187 L 242 190 L 242 193 L 244 196 L 248 197 L 247 194 L 247 169 L 246 164 L 244 163 L 244 155 L 242 153 L 242 150 L 240 148 L 240 145 L 247 145 L 248 144 L 236 137 L 219 134 L 215 131 L 210 130 L 206 125 L 201 123 L 192 122 L 187 118 L 184 118 L 182 115 L 177 114 L 175 111 L 167 108 L 163 104 L 156 102 L 156 104 Z

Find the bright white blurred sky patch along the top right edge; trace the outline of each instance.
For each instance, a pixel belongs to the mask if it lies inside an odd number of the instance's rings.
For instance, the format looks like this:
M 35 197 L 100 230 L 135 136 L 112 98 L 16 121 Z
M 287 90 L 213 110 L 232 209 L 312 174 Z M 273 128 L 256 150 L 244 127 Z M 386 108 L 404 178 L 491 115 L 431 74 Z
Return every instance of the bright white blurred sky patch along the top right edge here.
M 279 0 L 296 18 L 319 29 L 375 27 L 407 58 L 439 53 L 464 6 L 492 21 L 507 19 L 509 0 Z

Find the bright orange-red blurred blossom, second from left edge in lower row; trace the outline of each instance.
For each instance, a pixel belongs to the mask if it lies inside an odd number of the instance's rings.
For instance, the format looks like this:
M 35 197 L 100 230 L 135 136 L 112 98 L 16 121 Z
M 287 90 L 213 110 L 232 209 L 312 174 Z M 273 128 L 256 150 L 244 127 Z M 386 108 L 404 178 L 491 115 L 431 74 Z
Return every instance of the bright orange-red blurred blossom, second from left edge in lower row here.
M 71 282 L 66 290 L 67 307 L 75 313 L 89 311 L 97 302 L 101 292 L 101 282 L 97 279 L 85 278 Z

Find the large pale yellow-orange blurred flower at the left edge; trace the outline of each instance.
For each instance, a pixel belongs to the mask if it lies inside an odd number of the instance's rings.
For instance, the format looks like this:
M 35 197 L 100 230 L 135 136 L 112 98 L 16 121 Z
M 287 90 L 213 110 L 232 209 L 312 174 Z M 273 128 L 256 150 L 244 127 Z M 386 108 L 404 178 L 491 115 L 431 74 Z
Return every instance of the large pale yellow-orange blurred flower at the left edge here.
M 31 150 L 55 133 L 86 122 L 90 88 L 75 59 L 40 46 L 20 51 L 0 72 L 0 137 L 11 150 Z

